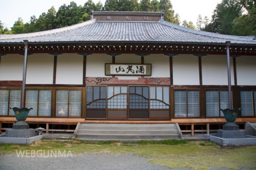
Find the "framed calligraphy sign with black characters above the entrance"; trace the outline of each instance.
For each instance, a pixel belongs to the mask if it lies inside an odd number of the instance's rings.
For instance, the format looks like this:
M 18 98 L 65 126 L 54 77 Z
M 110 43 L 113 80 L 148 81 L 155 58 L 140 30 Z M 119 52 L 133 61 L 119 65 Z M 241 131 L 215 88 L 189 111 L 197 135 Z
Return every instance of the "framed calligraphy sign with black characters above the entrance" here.
M 105 64 L 105 75 L 151 75 L 151 64 Z

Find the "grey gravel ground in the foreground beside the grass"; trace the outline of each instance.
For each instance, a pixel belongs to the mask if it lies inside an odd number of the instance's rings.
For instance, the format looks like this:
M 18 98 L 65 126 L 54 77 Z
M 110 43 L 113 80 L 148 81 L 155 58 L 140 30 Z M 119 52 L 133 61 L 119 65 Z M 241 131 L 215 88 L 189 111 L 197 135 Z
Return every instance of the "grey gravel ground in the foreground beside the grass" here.
M 45 154 L 47 156 L 47 154 Z M 49 154 L 50 155 L 50 154 Z M 17 157 L 17 155 L 0 155 L 0 169 L 148 169 L 166 170 L 147 159 L 132 155 L 89 154 L 67 157 Z

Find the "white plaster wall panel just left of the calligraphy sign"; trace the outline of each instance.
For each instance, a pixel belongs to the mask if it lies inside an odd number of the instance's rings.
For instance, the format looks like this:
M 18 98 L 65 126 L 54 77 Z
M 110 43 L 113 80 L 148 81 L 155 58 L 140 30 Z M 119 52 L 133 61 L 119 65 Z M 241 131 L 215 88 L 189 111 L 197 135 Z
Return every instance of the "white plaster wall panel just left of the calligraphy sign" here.
M 86 56 L 86 77 L 107 77 L 105 63 L 112 63 L 112 56 L 106 54 Z

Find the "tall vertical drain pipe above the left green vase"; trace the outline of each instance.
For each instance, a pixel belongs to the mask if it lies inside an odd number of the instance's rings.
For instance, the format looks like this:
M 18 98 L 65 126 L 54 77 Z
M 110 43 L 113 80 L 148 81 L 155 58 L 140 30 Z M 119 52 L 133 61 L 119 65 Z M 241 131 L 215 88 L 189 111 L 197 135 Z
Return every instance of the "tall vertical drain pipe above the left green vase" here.
M 28 40 L 23 40 L 25 45 L 24 63 L 23 63 L 23 78 L 21 89 L 21 108 L 25 107 L 25 84 L 26 84 L 26 72 L 27 72 L 27 56 L 28 56 Z

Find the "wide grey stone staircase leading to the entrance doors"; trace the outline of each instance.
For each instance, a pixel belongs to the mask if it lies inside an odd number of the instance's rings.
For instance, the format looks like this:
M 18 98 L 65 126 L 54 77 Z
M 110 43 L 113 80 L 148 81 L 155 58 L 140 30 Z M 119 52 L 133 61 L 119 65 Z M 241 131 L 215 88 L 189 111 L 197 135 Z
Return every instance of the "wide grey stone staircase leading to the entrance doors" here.
M 83 140 L 165 140 L 183 139 L 178 124 L 78 123 L 73 138 Z

